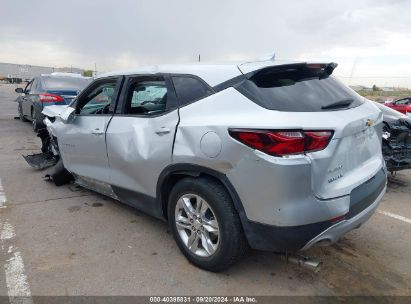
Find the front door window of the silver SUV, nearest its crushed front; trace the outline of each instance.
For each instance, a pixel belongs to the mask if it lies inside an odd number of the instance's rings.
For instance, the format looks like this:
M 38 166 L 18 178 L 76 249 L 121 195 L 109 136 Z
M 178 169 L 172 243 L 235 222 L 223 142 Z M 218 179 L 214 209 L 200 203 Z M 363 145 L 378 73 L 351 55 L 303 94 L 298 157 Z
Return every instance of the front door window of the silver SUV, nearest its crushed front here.
M 76 113 L 80 115 L 107 114 L 113 101 L 116 85 L 116 80 L 109 80 L 95 86 L 85 98 L 79 101 Z

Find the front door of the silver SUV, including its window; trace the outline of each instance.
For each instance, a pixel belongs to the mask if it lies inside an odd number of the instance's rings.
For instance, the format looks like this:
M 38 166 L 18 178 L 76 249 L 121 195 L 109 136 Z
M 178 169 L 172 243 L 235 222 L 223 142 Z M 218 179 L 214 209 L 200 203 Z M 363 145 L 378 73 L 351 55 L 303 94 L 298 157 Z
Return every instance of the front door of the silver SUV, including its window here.
M 108 183 L 105 132 L 113 116 L 122 77 L 100 79 L 73 105 L 74 120 L 58 131 L 65 167 L 82 177 Z

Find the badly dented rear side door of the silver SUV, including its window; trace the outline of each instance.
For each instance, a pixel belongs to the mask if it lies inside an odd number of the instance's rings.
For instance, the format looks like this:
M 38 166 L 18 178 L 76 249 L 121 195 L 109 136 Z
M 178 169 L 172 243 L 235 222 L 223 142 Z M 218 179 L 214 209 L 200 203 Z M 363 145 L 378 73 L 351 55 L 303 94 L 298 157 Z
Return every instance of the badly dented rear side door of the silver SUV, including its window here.
M 161 171 L 171 163 L 179 121 L 167 75 L 130 76 L 107 130 L 110 183 L 122 201 L 150 211 L 130 193 L 155 197 Z M 125 197 L 127 196 L 127 197 Z

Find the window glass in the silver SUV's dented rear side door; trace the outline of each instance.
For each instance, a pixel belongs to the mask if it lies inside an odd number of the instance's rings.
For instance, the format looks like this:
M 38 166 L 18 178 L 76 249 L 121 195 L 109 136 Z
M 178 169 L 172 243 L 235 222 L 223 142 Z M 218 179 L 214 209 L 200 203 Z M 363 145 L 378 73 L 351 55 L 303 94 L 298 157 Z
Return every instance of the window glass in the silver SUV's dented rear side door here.
M 163 79 L 135 81 L 129 87 L 125 114 L 152 115 L 164 112 L 167 86 Z

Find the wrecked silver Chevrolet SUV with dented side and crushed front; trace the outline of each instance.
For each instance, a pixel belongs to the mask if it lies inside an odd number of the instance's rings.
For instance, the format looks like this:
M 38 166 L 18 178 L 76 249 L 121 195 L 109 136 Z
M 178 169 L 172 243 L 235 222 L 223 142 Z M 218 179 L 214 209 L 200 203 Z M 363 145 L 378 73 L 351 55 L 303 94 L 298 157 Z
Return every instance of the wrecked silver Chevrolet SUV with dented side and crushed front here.
M 330 76 L 336 64 L 154 66 L 93 81 L 50 106 L 43 154 L 69 180 L 169 222 L 198 267 L 248 246 L 331 244 L 386 189 L 382 113 Z M 41 161 L 40 161 L 41 162 Z

